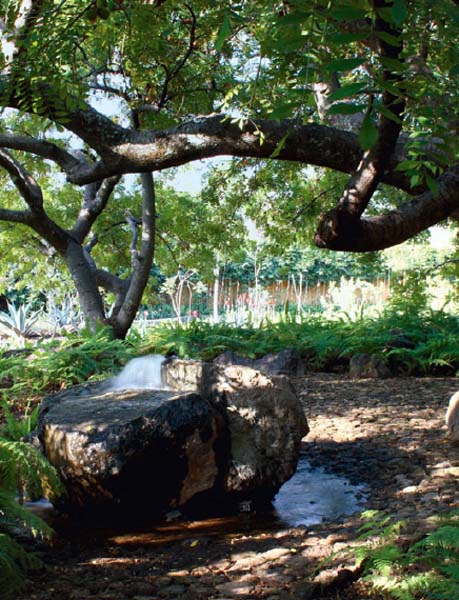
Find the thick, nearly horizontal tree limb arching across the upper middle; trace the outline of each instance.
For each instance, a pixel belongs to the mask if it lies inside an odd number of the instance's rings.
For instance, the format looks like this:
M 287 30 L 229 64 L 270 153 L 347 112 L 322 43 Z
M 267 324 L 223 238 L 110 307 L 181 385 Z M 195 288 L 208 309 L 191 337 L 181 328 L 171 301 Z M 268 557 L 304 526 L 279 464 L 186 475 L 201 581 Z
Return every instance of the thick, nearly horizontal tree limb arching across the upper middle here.
M 256 128 L 264 133 L 263 144 L 255 135 Z M 358 166 L 362 152 L 355 134 L 315 123 L 299 125 L 296 119 L 258 119 L 241 130 L 229 118 L 211 115 L 162 131 L 125 130 L 125 135 L 126 141 L 111 146 L 110 154 L 107 151 L 100 163 L 67 171 L 69 181 L 82 185 L 115 174 L 160 171 L 221 155 L 270 158 L 282 142 L 285 143 L 276 156 L 278 160 L 350 173 Z M 383 181 L 412 191 L 409 179 L 395 171 L 403 158 L 403 147 L 397 146 Z

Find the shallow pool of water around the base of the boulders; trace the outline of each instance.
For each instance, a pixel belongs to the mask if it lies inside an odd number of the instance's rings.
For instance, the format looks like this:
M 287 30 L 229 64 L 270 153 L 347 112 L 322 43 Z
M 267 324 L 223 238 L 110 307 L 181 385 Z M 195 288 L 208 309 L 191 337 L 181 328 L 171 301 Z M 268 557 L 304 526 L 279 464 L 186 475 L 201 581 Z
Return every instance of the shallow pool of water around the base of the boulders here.
M 282 486 L 271 510 L 199 520 L 186 520 L 179 514 L 172 522 L 165 520 L 154 525 L 120 526 L 115 530 L 94 523 L 82 526 L 72 519 L 60 519 L 46 501 L 28 505 L 55 525 L 61 535 L 74 540 L 81 538 L 86 545 L 110 539 L 120 545 L 159 546 L 191 537 L 223 538 L 241 532 L 267 532 L 285 527 L 311 526 L 322 521 L 339 521 L 346 515 L 363 510 L 365 501 L 363 485 L 353 485 L 323 467 L 311 467 L 302 457 L 295 475 Z

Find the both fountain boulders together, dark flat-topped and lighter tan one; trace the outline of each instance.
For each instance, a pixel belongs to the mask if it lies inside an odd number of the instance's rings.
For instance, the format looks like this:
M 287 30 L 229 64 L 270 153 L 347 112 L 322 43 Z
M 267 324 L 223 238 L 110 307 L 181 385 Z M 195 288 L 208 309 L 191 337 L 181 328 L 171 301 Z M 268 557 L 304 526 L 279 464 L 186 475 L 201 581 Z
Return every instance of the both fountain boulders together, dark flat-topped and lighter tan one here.
M 157 517 L 265 502 L 294 473 L 308 427 L 287 378 L 179 359 L 163 378 L 168 389 L 103 383 L 43 401 L 39 436 L 67 489 L 63 510 Z

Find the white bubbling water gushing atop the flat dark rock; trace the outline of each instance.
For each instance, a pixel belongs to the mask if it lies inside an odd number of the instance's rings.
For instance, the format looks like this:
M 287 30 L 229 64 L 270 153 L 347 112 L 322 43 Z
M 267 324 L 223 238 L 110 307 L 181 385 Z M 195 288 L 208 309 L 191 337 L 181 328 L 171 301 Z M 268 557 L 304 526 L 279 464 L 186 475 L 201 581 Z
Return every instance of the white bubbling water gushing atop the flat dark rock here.
M 113 392 L 167 389 L 162 379 L 162 365 L 165 360 L 161 354 L 133 358 L 118 375 L 111 379 L 108 389 Z

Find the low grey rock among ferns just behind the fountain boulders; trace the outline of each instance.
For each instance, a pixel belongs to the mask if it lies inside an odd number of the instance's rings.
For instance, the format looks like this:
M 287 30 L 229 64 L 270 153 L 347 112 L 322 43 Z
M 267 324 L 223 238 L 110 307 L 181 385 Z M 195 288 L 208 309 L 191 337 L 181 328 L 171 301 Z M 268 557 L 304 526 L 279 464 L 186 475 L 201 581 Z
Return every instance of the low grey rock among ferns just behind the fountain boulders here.
M 244 358 L 235 352 L 227 351 L 217 356 L 214 363 L 219 365 L 243 365 L 265 375 L 301 377 L 304 375 L 305 370 L 304 360 L 296 350 L 291 348 L 275 354 L 266 354 L 261 358 Z

